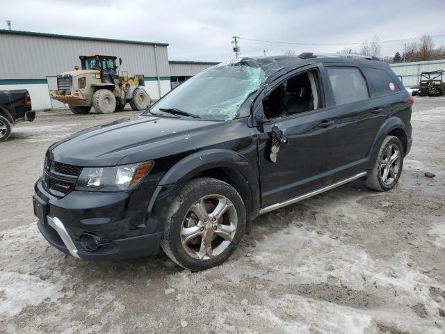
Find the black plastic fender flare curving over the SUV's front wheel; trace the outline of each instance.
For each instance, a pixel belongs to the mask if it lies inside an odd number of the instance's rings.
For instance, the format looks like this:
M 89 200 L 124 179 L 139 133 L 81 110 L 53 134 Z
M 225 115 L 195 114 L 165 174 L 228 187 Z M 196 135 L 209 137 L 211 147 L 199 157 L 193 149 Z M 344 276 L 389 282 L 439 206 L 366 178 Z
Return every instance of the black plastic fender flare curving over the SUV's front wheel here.
M 195 152 L 179 160 L 159 181 L 156 190 L 149 202 L 147 211 L 152 211 L 161 189 L 172 184 L 182 185 L 184 181 L 212 168 L 231 168 L 246 180 L 252 198 L 252 209 L 259 210 L 259 180 L 257 171 L 254 170 L 248 159 L 232 150 L 211 149 Z

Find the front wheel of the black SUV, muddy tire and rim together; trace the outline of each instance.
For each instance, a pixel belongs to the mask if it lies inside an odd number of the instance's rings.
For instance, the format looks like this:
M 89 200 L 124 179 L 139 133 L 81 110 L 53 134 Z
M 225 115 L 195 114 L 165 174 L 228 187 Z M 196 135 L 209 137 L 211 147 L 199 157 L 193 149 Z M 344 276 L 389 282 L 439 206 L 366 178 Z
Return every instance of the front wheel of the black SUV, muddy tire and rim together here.
M 204 212 L 199 203 L 205 205 Z M 212 214 L 224 203 L 225 211 L 213 221 Z M 193 179 L 179 191 L 168 209 L 161 247 L 185 269 L 201 271 L 218 266 L 241 241 L 245 217 L 244 202 L 232 186 L 210 177 Z

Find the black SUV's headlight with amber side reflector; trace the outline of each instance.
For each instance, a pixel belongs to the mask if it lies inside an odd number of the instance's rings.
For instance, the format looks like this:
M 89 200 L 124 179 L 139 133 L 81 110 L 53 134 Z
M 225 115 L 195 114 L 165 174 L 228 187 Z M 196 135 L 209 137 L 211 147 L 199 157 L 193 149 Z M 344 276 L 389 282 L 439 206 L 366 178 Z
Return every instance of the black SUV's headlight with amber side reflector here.
M 152 162 L 115 167 L 86 167 L 76 183 L 76 190 L 125 191 L 133 189 L 148 174 Z

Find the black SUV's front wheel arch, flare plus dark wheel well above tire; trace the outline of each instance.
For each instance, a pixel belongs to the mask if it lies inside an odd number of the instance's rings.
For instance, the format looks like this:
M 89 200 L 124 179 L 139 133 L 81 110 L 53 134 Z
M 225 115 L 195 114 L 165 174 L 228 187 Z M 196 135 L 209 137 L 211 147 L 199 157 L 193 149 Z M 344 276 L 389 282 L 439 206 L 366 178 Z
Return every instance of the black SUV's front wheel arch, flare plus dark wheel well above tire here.
M 195 177 L 213 177 L 227 182 L 243 198 L 248 218 L 253 219 L 257 215 L 260 206 L 257 172 L 241 154 L 221 149 L 195 152 L 178 161 L 165 173 L 159 182 L 159 191 L 169 184 L 175 184 L 175 191 L 179 191 Z M 157 197 L 155 194 L 150 200 L 149 211 Z

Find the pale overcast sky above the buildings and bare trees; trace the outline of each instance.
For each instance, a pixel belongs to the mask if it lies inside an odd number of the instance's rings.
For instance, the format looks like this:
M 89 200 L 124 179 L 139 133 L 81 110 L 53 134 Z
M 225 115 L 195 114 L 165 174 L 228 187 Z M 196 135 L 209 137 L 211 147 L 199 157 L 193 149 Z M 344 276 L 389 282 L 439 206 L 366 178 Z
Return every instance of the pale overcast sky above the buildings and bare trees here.
M 444 1 L 142 1 L 0 0 L 0 27 L 125 40 L 167 42 L 170 60 L 227 61 L 231 38 L 314 44 L 351 43 L 445 34 Z M 445 37 L 434 38 L 445 45 Z M 382 56 L 403 51 L 382 43 Z M 283 54 L 292 49 L 335 52 L 341 45 L 284 45 L 240 40 L 242 56 Z M 351 45 L 359 49 L 360 45 Z

